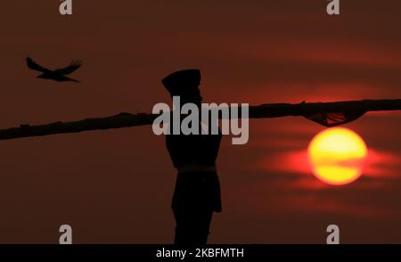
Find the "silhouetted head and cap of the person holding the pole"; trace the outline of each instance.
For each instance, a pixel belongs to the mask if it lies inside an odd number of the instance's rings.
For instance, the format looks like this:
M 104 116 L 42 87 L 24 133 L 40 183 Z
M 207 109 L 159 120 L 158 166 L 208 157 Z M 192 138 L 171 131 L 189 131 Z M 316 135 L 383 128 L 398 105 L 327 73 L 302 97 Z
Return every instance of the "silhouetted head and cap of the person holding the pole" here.
M 181 70 L 161 80 L 171 96 L 180 96 L 181 104 L 192 102 L 201 106 L 200 70 Z

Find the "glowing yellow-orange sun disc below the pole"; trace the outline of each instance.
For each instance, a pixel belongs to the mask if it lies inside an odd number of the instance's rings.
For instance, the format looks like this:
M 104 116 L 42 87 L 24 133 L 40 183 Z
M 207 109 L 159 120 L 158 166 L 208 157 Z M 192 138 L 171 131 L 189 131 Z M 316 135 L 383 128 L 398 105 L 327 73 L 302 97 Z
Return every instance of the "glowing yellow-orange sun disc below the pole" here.
M 349 184 L 362 175 L 367 147 L 354 131 L 332 127 L 315 135 L 308 147 L 314 175 L 327 184 Z

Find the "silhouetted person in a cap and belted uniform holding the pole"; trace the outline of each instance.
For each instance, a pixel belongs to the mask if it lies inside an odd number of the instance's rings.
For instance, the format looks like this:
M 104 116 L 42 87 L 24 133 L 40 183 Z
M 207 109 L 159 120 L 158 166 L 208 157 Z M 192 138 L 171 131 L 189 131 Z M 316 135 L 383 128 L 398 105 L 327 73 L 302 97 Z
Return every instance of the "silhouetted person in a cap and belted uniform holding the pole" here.
M 180 103 L 198 106 L 201 116 L 200 70 L 182 70 L 162 80 L 171 96 L 180 96 Z M 176 108 L 175 110 L 180 110 Z M 181 119 L 185 116 L 181 115 Z M 171 119 L 171 118 L 170 118 Z M 177 169 L 172 209 L 176 219 L 175 244 L 206 244 L 213 212 L 221 212 L 220 183 L 216 159 L 221 132 L 218 135 L 166 135 L 168 153 Z M 180 129 L 181 130 L 181 129 Z M 205 130 L 205 129 L 204 129 Z M 207 130 L 205 130 L 207 131 Z

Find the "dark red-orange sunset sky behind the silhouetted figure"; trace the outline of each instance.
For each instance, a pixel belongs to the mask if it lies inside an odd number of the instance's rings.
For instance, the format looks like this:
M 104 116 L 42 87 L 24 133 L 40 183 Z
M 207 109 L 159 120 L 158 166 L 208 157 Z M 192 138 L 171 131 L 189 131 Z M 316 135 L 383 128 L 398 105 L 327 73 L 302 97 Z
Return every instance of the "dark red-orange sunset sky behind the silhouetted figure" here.
M 59 1 L 2 4 L 0 128 L 150 112 L 169 102 L 160 79 L 199 68 L 209 102 L 326 102 L 401 98 L 401 3 L 324 0 Z M 85 66 L 77 84 L 39 80 L 49 67 Z M 401 243 L 401 115 L 348 124 L 371 160 L 346 186 L 316 180 L 299 160 L 323 127 L 306 119 L 250 121 L 250 142 L 225 137 L 218 158 L 223 213 L 213 243 Z M 169 243 L 176 173 L 151 127 L 3 141 L 0 242 Z

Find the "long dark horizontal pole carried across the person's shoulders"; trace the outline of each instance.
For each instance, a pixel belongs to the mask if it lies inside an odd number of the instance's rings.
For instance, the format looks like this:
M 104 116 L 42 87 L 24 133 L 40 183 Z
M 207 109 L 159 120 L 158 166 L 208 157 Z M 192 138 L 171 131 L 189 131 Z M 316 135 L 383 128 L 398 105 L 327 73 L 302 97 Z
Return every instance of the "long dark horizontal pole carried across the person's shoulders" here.
M 266 103 L 250 106 L 250 119 L 282 118 L 287 116 L 307 117 L 317 113 L 341 111 L 400 111 L 401 99 L 393 100 L 361 100 L 346 102 L 301 102 Z M 82 119 L 71 122 L 55 122 L 51 124 L 30 126 L 20 125 L 0 130 L 0 140 L 16 139 L 30 136 L 78 133 L 90 130 L 104 130 L 122 127 L 138 127 L 151 125 L 158 115 L 120 113 L 106 118 Z

